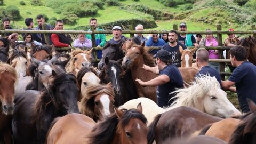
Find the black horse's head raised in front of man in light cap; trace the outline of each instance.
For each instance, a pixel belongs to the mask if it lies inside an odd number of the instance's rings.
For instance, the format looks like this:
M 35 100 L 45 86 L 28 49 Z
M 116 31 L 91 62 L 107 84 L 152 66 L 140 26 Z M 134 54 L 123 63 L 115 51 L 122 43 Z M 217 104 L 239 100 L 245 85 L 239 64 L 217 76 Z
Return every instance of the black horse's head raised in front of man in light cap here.
M 122 41 L 118 44 L 106 43 L 102 50 L 102 58 L 98 63 L 98 68 L 101 70 L 105 65 L 105 58 L 109 60 L 119 60 L 124 57 L 123 50 L 121 49 Z

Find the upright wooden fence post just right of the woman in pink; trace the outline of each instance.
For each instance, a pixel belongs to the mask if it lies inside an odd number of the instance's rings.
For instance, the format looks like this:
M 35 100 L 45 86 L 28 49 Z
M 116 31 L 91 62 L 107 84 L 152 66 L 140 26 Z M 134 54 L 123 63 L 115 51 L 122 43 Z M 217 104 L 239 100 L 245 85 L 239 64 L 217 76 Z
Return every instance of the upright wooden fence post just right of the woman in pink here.
M 221 25 L 217 25 L 217 30 L 221 31 Z M 218 38 L 218 46 L 222 46 L 222 35 L 218 34 L 217 35 Z M 219 50 L 219 59 L 224 59 L 224 55 L 223 55 L 223 50 Z M 225 63 L 221 62 L 220 63 L 220 72 L 225 72 Z M 221 75 L 221 79 L 225 80 L 225 75 Z

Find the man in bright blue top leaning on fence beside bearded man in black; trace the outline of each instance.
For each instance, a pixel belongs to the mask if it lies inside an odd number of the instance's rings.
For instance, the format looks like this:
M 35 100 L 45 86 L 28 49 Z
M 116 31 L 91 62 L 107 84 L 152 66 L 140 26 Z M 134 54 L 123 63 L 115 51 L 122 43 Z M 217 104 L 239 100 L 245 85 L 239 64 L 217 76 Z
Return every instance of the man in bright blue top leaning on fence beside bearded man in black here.
M 166 43 L 164 42 L 163 39 L 159 38 L 158 39 L 158 34 L 151 34 L 150 37 L 148 38 L 148 41 L 146 42 L 146 46 L 163 46 Z M 156 54 L 157 50 L 151 50 L 149 53 L 150 54 Z

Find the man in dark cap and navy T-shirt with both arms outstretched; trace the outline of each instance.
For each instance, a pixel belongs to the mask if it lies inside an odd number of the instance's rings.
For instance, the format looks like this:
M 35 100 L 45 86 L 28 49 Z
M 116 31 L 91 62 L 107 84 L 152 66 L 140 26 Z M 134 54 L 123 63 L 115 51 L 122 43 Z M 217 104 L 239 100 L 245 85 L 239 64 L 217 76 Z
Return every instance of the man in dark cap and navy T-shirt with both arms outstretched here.
M 152 73 L 159 74 L 158 77 L 150 81 L 143 82 L 140 79 L 136 81 L 142 86 L 157 86 L 157 105 L 159 107 L 168 107 L 174 101 L 170 100 L 174 94 L 170 94 L 177 88 L 183 88 L 183 79 L 178 68 L 171 63 L 169 52 L 161 49 L 156 55 L 156 67 L 143 65 L 142 68 Z

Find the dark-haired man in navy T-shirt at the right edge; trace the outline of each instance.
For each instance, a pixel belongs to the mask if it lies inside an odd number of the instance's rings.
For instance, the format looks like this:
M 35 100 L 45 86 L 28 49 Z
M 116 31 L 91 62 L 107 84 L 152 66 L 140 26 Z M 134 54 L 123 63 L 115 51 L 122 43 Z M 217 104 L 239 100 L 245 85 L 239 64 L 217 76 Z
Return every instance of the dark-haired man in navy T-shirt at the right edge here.
M 250 111 L 247 99 L 256 103 L 256 66 L 246 60 L 246 49 L 242 46 L 232 47 L 229 53 L 231 64 L 236 69 L 228 80 L 222 81 L 222 87 L 237 92 L 239 106 L 243 113 L 247 113 Z

